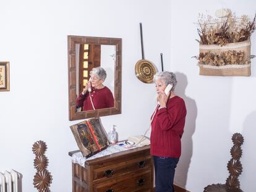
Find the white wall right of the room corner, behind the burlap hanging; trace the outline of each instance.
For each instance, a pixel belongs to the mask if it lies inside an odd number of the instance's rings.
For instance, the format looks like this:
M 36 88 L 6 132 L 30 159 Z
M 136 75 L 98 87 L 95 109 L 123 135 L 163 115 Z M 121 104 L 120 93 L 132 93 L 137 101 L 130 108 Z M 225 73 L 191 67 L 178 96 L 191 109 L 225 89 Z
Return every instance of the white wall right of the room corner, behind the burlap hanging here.
M 233 143 L 231 136 L 244 136 L 239 177 L 244 191 L 256 191 L 253 152 L 256 119 L 256 60 L 252 59 L 251 77 L 207 77 L 198 75 L 198 13 L 215 16 L 215 10 L 230 8 L 237 16 L 255 14 L 255 1 L 172 1 L 171 65 L 178 72 L 177 93 L 187 104 L 187 122 L 182 138 L 182 157 L 176 171 L 176 183 L 190 191 L 203 191 L 212 183 L 225 183 L 227 163 Z M 256 34 L 251 38 L 251 54 L 256 54 Z M 182 86 L 182 87 L 181 87 Z M 186 91 L 184 92 L 184 89 Z

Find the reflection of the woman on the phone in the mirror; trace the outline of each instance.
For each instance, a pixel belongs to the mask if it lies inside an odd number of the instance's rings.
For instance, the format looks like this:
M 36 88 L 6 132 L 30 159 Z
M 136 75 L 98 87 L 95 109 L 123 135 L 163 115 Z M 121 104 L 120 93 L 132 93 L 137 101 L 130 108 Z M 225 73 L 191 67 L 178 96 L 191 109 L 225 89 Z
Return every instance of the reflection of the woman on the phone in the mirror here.
M 102 67 L 93 68 L 90 80 L 77 98 L 77 107 L 82 107 L 82 111 L 114 107 L 113 94 L 103 85 L 105 79 L 106 71 Z

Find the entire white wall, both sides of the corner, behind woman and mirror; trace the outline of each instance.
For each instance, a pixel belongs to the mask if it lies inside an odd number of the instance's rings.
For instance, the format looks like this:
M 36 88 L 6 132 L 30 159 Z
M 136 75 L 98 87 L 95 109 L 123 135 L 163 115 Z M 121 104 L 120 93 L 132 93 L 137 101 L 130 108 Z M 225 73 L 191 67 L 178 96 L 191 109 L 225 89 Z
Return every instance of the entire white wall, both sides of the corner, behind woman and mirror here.
M 145 59 L 177 72 L 177 93 L 186 101 L 187 122 L 176 184 L 193 192 L 224 183 L 231 158 L 231 136 L 239 131 L 243 172 L 241 188 L 256 190 L 253 176 L 256 119 L 256 67 L 251 77 L 198 75 L 198 12 L 229 7 L 254 15 L 255 1 L 1 1 L 0 61 L 9 61 L 11 91 L 0 93 L 0 171 L 23 174 L 23 191 L 33 190 L 32 145 L 48 144 L 52 191 L 71 191 L 69 151 L 77 149 L 68 120 L 67 35 L 122 38 L 122 114 L 102 117 L 106 131 L 117 125 L 119 138 L 141 135 L 155 108 L 154 85 L 134 75 L 141 59 L 139 22 L 143 23 Z M 80 19 L 77 19 L 80 18 Z M 88 18 L 88 20 L 85 20 Z M 255 54 L 255 34 L 252 54 Z

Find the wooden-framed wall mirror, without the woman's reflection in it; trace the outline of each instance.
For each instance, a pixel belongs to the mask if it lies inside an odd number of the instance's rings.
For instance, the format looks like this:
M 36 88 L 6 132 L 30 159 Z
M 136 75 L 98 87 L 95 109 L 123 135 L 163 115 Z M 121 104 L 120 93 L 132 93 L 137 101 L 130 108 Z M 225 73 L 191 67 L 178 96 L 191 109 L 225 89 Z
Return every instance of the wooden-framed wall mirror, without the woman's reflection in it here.
M 67 36 L 69 69 L 69 120 L 121 114 L 122 39 L 93 36 Z M 90 78 L 90 70 L 103 67 L 105 86 L 114 97 L 114 107 L 79 111 L 77 97 Z

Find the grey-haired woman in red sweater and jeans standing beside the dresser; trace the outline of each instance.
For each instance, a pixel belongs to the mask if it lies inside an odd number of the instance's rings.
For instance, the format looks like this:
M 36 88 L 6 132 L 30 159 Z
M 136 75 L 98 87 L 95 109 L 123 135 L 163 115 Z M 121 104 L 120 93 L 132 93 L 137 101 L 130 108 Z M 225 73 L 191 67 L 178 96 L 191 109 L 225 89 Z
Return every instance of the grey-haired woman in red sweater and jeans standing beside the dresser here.
M 156 73 L 154 82 L 158 106 L 151 117 L 150 153 L 155 165 L 155 191 L 173 192 L 187 111 L 184 100 L 174 93 L 177 80 L 173 72 Z M 168 84 L 173 87 L 166 95 L 164 90 Z

